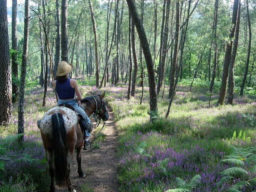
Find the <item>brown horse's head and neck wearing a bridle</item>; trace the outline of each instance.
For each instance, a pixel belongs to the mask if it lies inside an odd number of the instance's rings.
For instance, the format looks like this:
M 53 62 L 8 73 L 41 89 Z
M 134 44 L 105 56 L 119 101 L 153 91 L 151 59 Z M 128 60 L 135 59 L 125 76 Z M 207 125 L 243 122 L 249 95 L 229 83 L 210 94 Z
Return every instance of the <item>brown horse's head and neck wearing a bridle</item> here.
M 81 100 L 83 107 L 89 109 L 91 113 L 98 116 L 99 119 L 107 121 L 109 118 L 106 103 L 103 101 L 105 92 L 100 95 L 89 96 Z

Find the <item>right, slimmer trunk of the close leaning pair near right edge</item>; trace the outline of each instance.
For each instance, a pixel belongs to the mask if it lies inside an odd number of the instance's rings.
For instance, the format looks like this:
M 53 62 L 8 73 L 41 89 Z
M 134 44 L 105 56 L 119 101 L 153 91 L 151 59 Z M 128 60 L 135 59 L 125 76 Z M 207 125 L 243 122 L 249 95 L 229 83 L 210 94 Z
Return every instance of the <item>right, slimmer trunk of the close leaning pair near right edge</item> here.
M 234 96 L 234 65 L 236 60 L 236 52 L 238 46 L 239 39 L 239 27 L 240 27 L 240 12 L 241 12 L 241 2 L 239 0 L 238 13 L 237 13 L 237 21 L 236 21 L 236 33 L 234 39 L 234 46 L 232 50 L 231 61 L 229 63 L 229 76 L 228 76 L 228 104 L 233 104 L 233 96 Z

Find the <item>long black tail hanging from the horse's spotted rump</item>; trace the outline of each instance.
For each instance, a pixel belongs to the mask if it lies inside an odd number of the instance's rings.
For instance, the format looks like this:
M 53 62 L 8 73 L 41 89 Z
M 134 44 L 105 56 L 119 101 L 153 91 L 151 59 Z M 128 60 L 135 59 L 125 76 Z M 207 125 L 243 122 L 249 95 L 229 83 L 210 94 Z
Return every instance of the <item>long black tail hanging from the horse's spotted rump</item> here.
M 67 185 L 67 133 L 62 114 L 52 114 L 52 133 L 54 143 L 54 174 L 56 184 Z

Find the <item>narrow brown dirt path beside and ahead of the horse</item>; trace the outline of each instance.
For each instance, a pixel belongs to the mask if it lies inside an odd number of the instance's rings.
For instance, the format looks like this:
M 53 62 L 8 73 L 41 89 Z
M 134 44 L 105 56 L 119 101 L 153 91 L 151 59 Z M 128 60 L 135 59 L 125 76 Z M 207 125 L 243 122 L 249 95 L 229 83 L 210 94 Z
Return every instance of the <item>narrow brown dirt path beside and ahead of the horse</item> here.
M 114 123 L 113 112 L 106 106 L 109 112 L 109 120 L 106 121 L 102 132 L 106 138 L 101 142 L 100 149 L 82 150 L 82 170 L 85 173 L 84 178 L 79 178 L 77 173 L 76 153 L 74 153 L 71 164 L 70 179 L 77 192 L 80 192 L 80 186 L 87 183 L 94 192 L 117 192 L 119 184 L 117 181 L 117 128 Z M 95 127 L 94 122 L 94 127 Z M 95 130 L 93 131 L 95 133 Z M 90 140 L 93 140 L 91 135 Z M 67 192 L 67 188 L 58 188 L 56 192 Z M 85 190 L 85 192 L 92 190 Z

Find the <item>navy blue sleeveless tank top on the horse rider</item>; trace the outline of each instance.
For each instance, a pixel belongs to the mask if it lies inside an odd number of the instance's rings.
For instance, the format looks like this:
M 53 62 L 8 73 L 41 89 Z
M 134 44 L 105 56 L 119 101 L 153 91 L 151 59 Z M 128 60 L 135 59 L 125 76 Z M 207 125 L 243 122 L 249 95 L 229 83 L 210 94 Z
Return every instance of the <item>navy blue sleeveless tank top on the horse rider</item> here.
M 66 81 L 58 81 L 56 80 L 55 90 L 58 94 L 59 99 L 74 99 L 75 97 L 75 89 L 70 85 L 70 79 Z

